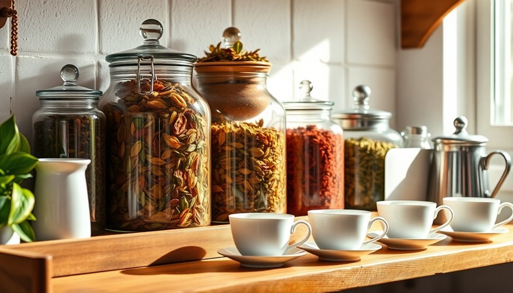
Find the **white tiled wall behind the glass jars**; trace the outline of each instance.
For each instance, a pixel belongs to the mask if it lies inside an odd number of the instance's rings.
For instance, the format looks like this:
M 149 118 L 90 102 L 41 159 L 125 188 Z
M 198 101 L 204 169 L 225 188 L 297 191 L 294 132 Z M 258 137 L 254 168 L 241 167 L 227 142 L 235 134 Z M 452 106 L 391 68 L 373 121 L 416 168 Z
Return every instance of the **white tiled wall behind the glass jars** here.
M 105 91 L 105 55 L 142 44 L 147 18 L 164 25 L 161 44 L 198 56 L 226 27 L 242 31 L 245 48 L 273 63 L 269 91 L 293 98 L 310 79 L 318 99 L 347 109 L 359 83 L 371 107 L 396 110 L 397 0 L 31 0 L 18 1 L 19 54 L 9 56 L 10 26 L 0 29 L 0 120 L 15 113 L 30 136 L 39 107 L 35 91 L 60 85 L 61 67 L 80 69 L 78 83 Z M 12 100 L 11 100 L 12 97 Z M 395 114 L 395 113 L 394 113 Z M 395 125 L 391 121 L 392 127 Z

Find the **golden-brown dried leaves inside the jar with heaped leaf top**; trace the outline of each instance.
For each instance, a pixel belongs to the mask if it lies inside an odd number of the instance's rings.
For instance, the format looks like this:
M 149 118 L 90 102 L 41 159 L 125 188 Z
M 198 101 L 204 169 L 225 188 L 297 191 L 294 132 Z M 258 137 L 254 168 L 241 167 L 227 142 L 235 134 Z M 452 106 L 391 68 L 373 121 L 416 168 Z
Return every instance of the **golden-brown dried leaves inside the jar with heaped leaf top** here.
M 285 213 L 285 136 L 257 123 L 212 123 L 212 221 Z

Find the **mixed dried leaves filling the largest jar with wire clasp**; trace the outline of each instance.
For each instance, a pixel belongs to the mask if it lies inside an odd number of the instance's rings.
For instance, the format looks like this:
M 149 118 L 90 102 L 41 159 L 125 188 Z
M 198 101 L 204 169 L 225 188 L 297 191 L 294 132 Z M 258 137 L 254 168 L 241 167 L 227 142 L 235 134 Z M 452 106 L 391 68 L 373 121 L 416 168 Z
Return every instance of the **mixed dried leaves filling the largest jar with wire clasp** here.
M 148 91 L 148 82 L 141 82 Z M 106 104 L 108 224 L 151 231 L 210 224 L 209 128 L 198 103 L 177 83 L 156 80 L 141 95 L 135 80 Z

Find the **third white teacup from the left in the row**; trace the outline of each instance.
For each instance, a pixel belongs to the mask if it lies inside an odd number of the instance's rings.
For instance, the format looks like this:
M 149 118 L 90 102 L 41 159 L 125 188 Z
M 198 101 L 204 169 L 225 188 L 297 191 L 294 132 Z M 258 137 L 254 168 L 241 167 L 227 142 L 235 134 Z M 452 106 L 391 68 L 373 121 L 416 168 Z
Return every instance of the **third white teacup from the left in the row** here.
M 452 221 L 450 207 L 435 202 L 418 200 L 385 200 L 378 201 L 378 214 L 388 222 L 389 238 L 423 239 L 440 231 Z M 447 211 L 447 221 L 431 229 L 438 212 Z

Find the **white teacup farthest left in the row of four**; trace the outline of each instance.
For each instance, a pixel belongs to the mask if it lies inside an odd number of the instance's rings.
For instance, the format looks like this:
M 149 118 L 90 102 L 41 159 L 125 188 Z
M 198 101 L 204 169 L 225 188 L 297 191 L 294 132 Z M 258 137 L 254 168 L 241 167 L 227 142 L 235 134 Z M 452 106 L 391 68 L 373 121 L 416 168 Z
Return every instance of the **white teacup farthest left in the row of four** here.
M 285 250 L 305 243 L 310 237 L 308 222 L 294 222 L 294 216 L 273 213 L 242 213 L 229 216 L 231 235 L 237 250 L 246 256 L 281 256 Z M 304 224 L 308 227 L 306 237 L 288 245 L 295 227 Z

